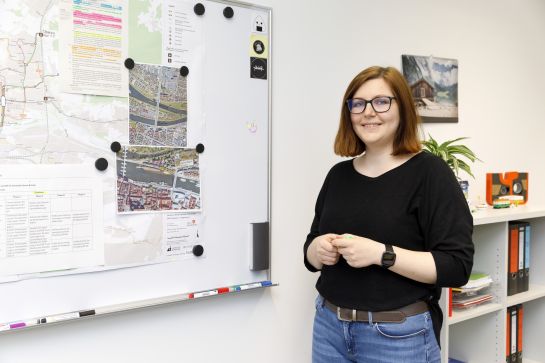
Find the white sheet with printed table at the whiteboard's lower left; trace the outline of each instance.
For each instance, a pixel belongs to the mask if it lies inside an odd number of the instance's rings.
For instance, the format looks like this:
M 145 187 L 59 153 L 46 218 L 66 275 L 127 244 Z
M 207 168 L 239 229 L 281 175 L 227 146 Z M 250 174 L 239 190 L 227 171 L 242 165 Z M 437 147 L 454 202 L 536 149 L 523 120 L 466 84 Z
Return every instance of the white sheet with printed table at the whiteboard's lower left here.
M 102 188 L 88 165 L 3 165 L 0 280 L 104 264 Z

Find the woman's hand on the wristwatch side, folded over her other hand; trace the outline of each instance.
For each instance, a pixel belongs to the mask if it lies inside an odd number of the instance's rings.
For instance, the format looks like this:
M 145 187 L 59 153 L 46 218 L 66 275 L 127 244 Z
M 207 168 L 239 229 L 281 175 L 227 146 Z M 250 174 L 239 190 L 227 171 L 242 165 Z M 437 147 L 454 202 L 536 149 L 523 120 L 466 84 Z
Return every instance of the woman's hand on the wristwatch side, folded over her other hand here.
M 343 234 L 332 241 L 332 245 L 352 267 L 380 265 L 384 245 L 372 239 Z

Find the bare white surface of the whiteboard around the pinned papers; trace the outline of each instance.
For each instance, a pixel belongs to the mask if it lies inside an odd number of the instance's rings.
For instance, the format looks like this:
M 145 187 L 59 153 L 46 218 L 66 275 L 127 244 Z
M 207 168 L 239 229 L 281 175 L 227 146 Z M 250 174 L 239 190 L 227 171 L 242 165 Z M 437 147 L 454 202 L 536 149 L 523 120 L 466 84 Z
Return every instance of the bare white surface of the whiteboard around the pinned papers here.
M 202 196 L 199 237 L 204 254 L 175 262 L 2 283 L 0 323 L 118 304 L 130 308 L 142 301 L 160 304 L 178 294 L 270 280 L 269 269 L 249 268 L 249 231 L 252 223 L 270 222 L 270 49 L 266 75 L 262 77 L 266 79 L 251 78 L 250 72 L 252 29 L 256 19 L 263 22 L 269 48 L 271 9 L 226 1 L 200 3 L 206 10 L 199 17 L 202 58 L 188 65 L 187 80 L 188 84 L 197 84 L 195 89 L 199 90 L 199 96 L 193 98 L 194 104 L 189 105 L 189 117 L 202 119 L 202 130 L 193 141 L 205 147 L 199 156 Z M 56 6 L 57 2 L 52 4 Z M 231 18 L 224 15 L 226 7 L 233 10 Z M 6 28 L 1 30 L 6 32 Z M 192 89 L 188 86 L 189 91 Z M 125 101 L 118 98 L 116 102 Z M 8 100 L 6 110 L 9 106 Z M 66 122 L 69 124 L 71 120 Z M 13 141 L 8 140 L 5 130 L 0 130 L 2 146 Z M 115 140 L 110 138 L 89 147 L 89 158 L 105 157 L 110 165 L 115 165 L 110 141 Z M 12 162 L 12 154 L 0 153 L 0 163 Z M 110 167 L 112 172 L 114 169 Z M 115 190 L 108 189 L 112 188 L 111 183 L 103 184 L 105 194 L 115 195 Z M 106 219 L 112 210 L 111 205 L 105 208 L 109 208 L 104 211 Z M 138 218 L 145 219 L 146 215 Z M 149 218 L 160 220 L 156 215 Z M 161 222 L 153 223 L 159 223 L 159 227 Z M 163 301 L 163 297 L 170 300 Z

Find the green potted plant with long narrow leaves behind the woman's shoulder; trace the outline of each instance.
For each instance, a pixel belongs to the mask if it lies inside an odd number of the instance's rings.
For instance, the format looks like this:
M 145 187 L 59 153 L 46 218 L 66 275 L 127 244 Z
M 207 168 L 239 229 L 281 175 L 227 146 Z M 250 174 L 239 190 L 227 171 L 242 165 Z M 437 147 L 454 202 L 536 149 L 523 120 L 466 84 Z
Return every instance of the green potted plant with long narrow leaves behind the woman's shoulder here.
M 470 163 L 475 162 L 475 160 L 480 161 L 480 159 L 477 158 L 475 153 L 467 146 L 463 144 L 457 144 L 459 141 L 467 139 L 467 137 L 459 137 L 457 139 L 447 140 L 441 144 L 439 144 L 433 137 L 431 137 L 431 135 L 428 134 L 428 137 L 428 140 L 422 141 L 422 146 L 424 150 L 439 156 L 447 163 L 448 166 L 450 166 L 450 168 L 454 172 L 454 175 L 456 175 L 456 178 L 458 178 L 458 182 L 460 183 L 460 187 L 462 188 L 466 199 L 468 199 L 469 182 L 467 180 L 462 180 L 459 176 L 459 173 L 460 170 L 463 170 L 473 179 L 475 179 L 475 176 L 471 172 Z M 461 158 L 465 158 L 466 160 L 463 160 Z

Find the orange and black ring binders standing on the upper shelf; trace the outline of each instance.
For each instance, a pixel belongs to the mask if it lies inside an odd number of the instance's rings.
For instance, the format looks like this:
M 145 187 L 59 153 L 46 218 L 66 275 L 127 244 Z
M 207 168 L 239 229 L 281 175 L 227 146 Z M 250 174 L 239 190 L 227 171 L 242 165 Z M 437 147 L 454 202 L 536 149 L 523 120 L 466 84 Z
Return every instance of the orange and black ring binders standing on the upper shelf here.
M 507 296 L 528 291 L 530 280 L 530 223 L 509 222 Z

